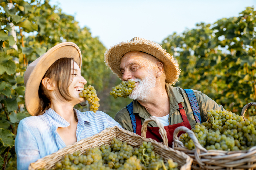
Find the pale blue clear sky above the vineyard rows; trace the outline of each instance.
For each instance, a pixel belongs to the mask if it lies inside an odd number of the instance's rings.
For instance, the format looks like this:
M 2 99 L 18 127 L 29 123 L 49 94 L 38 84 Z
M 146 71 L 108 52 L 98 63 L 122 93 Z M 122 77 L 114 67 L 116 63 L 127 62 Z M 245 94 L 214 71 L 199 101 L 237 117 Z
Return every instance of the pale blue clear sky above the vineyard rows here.
M 51 0 L 50 4 L 74 16 L 80 27 L 89 28 L 92 37 L 110 48 L 134 37 L 161 43 L 196 23 L 239 16 L 245 7 L 256 6 L 256 0 Z

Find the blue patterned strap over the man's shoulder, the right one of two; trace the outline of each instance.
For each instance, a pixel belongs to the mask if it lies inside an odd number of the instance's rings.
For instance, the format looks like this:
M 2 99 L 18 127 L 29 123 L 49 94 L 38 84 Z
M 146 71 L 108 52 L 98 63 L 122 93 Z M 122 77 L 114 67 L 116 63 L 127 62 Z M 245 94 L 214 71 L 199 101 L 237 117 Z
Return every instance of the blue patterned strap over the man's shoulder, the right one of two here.
M 186 92 L 186 94 L 188 96 L 188 100 L 190 102 L 190 106 L 192 108 L 192 111 L 193 111 L 193 114 L 195 116 L 196 122 L 202 123 L 201 114 L 200 114 L 198 102 L 197 102 L 194 91 L 191 90 L 191 89 L 183 89 L 183 90 Z

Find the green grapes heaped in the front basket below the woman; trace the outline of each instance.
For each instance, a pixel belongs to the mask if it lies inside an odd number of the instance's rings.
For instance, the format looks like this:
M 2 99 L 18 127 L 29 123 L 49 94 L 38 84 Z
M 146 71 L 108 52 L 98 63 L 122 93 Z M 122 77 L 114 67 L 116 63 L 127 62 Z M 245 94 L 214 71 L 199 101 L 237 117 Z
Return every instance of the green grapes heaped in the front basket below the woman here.
M 55 163 L 52 170 L 178 170 L 178 164 L 172 159 L 164 163 L 163 158 L 156 155 L 151 142 L 143 142 L 140 148 L 133 148 L 120 139 L 113 138 L 111 145 L 87 149 L 65 155 Z

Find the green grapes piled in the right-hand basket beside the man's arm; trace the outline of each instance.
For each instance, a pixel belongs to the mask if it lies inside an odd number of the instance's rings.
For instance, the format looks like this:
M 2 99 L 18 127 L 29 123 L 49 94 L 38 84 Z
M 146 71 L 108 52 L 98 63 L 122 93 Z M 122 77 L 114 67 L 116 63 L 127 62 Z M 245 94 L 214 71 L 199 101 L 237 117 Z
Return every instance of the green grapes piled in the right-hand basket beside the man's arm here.
M 192 129 L 207 150 L 248 150 L 256 145 L 256 116 L 244 120 L 238 114 L 213 109 L 207 115 L 209 122 L 197 123 Z M 180 136 L 180 141 L 190 150 L 195 147 L 187 133 Z

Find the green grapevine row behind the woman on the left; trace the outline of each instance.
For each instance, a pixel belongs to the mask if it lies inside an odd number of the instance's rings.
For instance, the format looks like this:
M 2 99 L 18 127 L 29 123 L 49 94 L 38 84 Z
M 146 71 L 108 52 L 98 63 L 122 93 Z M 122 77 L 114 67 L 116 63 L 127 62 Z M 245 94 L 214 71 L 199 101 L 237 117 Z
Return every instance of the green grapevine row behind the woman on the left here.
M 16 159 L 19 120 L 29 116 L 24 103 L 24 72 L 29 63 L 70 41 L 81 50 L 81 72 L 88 84 L 101 90 L 110 70 L 103 62 L 106 48 L 98 38 L 49 1 L 0 0 L 0 6 L 0 168 L 5 169 L 9 160 Z

